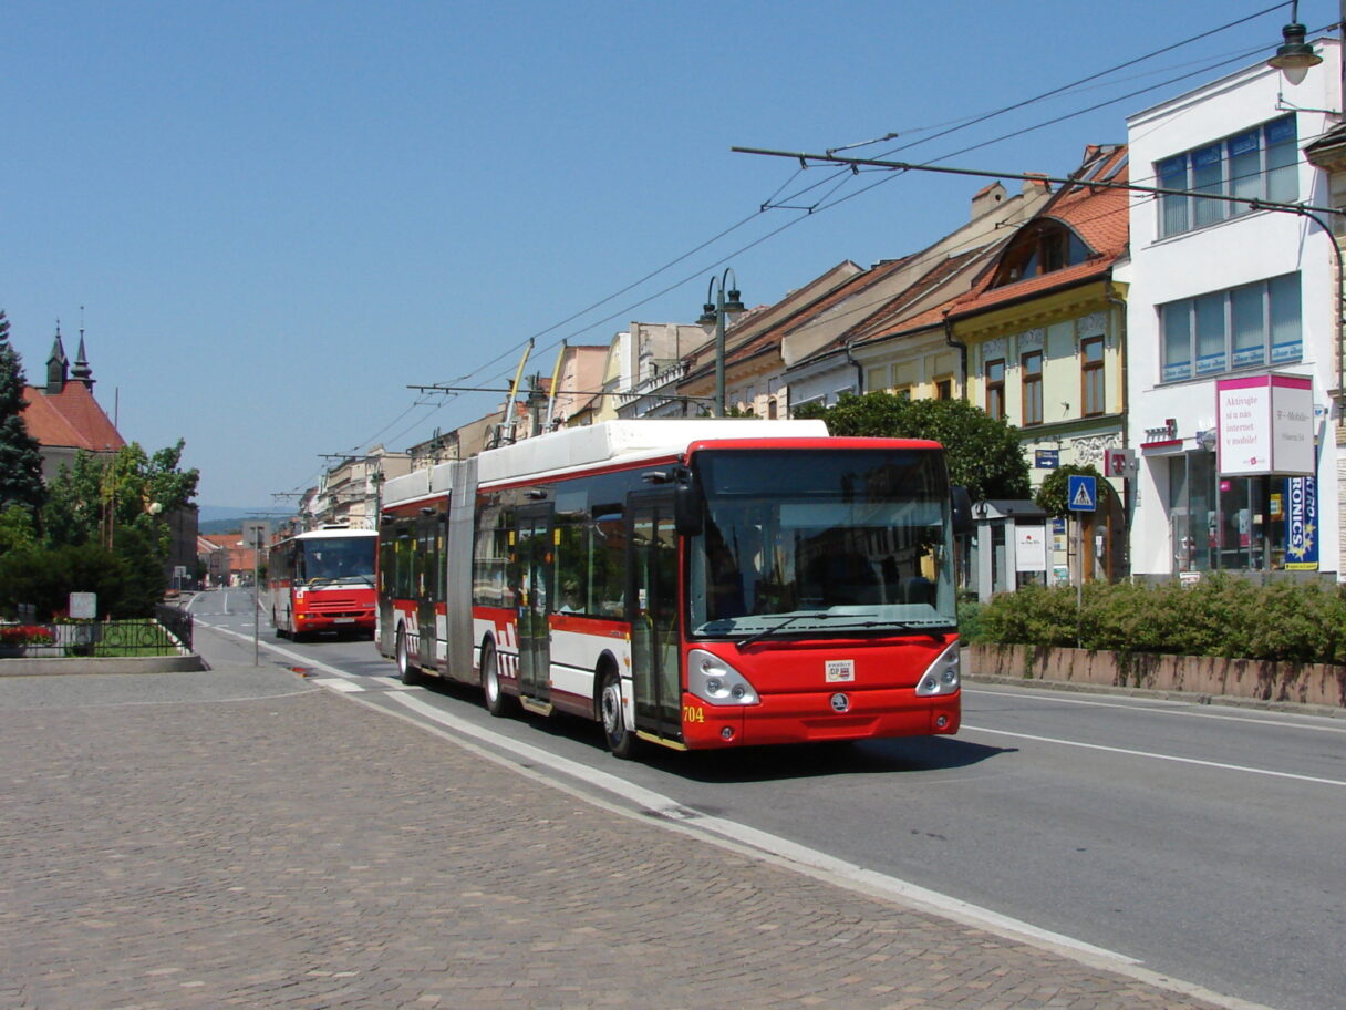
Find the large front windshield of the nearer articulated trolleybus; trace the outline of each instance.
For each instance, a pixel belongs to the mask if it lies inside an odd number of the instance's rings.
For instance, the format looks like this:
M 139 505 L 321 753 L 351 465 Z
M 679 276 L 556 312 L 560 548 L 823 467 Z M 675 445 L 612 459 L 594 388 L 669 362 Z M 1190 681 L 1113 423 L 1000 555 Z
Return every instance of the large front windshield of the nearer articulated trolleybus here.
M 688 540 L 693 634 L 956 628 L 937 450 L 708 450 L 695 462 L 707 520 Z

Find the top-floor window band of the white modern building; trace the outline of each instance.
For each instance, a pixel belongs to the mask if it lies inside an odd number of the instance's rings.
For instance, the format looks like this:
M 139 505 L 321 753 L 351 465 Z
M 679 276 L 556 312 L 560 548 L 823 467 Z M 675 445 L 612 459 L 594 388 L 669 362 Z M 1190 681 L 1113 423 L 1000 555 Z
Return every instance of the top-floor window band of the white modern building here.
M 1162 190 L 1292 203 L 1299 199 L 1298 160 L 1299 143 L 1291 114 L 1166 158 L 1155 164 L 1155 176 Z M 1248 203 L 1163 194 L 1159 197 L 1159 234 L 1167 237 L 1205 228 L 1252 209 Z

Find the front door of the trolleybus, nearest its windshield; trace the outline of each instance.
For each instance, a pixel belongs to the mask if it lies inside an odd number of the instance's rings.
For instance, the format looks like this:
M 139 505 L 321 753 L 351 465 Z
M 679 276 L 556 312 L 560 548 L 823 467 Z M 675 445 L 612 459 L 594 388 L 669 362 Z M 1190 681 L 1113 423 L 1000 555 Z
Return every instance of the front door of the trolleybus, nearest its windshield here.
M 635 492 L 627 498 L 631 673 L 635 729 L 664 739 L 682 738 L 678 689 L 677 533 L 672 492 Z

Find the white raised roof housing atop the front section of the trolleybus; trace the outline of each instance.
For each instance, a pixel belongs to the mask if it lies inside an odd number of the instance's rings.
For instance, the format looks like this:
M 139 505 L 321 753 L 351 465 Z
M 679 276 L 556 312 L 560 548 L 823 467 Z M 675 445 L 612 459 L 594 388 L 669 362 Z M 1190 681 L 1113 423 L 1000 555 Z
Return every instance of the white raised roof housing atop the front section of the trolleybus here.
M 583 428 L 561 428 L 524 439 L 478 457 L 481 485 L 520 478 L 552 477 L 583 466 L 638 462 L 684 451 L 708 439 L 826 438 L 821 420 L 668 419 L 612 420 Z

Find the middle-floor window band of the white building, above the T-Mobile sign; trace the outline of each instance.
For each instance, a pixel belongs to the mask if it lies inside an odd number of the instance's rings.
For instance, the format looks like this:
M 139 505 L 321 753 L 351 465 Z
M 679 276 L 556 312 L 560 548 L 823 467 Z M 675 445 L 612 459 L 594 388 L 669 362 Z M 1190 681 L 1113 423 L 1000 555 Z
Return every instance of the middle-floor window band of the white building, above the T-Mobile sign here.
M 1159 306 L 1162 381 L 1299 361 L 1299 275 Z

